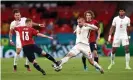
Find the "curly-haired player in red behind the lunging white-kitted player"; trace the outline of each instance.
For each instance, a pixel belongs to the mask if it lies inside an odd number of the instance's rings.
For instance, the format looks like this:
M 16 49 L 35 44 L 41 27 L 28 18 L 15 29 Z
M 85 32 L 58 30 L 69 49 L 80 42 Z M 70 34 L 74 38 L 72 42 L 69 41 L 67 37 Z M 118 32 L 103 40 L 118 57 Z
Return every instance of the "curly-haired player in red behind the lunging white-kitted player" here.
M 94 24 L 96 26 L 98 26 L 98 22 L 97 20 L 94 19 L 95 15 L 94 12 L 91 10 L 88 10 L 84 13 L 84 16 L 86 18 L 86 23 L 89 24 Z M 91 30 L 90 31 L 90 35 L 88 35 L 89 38 L 89 43 L 90 43 L 90 48 L 91 48 L 91 52 L 94 54 L 94 60 L 98 63 L 98 54 L 97 54 L 97 40 L 100 39 L 100 29 L 98 30 Z M 82 57 L 82 62 L 84 65 L 84 70 L 87 70 L 87 66 L 86 66 L 86 58 L 83 56 Z

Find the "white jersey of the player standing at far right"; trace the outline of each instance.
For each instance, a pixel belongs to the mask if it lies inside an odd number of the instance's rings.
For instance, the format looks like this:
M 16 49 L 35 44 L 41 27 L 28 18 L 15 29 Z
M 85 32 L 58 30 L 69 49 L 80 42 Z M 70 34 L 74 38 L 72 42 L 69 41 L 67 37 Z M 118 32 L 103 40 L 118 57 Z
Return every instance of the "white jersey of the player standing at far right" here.
M 127 36 L 127 26 L 130 26 L 130 18 L 125 16 L 122 19 L 119 16 L 116 16 L 113 19 L 112 26 L 116 27 L 114 36 Z

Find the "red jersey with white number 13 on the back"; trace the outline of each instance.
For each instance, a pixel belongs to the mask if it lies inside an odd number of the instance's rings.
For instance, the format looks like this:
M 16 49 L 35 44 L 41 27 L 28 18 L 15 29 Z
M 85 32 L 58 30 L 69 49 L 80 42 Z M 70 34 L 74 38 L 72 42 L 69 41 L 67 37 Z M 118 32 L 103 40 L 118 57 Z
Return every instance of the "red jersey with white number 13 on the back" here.
M 31 27 L 23 26 L 23 27 L 15 27 L 15 31 L 19 33 L 20 40 L 22 46 L 29 45 L 29 44 L 35 44 L 33 40 L 33 36 L 36 36 L 38 31 Z

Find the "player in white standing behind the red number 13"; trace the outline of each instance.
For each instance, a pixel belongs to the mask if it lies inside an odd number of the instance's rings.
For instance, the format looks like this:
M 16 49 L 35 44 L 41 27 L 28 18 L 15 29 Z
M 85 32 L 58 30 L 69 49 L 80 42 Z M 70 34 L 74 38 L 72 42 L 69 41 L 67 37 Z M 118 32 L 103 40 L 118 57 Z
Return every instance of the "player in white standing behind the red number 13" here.
M 10 38 L 10 44 L 11 45 L 14 45 L 13 41 L 12 41 L 12 32 L 13 32 L 13 28 L 14 27 L 19 27 L 19 26 L 25 26 L 25 21 L 27 18 L 25 17 L 21 17 L 21 14 L 20 14 L 20 11 L 15 9 L 13 10 L 13 14 L 14 14 L 14 18 L 15 20 L 11 22 L 10 24 L 10 31 L 9 31 L 9 38 Z M 43 24 L 37 24 L 37 23 L 33 23 L 33 25 L 35 26 L 41 26 L 41 27 L 44 27 Z M 18 34 L 17 31 L 15 31 L 16 33 L 16 54 L 14 56 L 14 71 L 17 70 L 17 59 L 19 57 L 19 54 L 21 52 L 21 49 L 22 49 L 22 45 L 21 45 L 21 41 L 20 41 L 20 35 Z M 25 63 L 25 67 L 27 68 L 28 71 L 30 71 L 30 67 L 29 67 L 29 64 L 28 64 L 28 59 L 26 58 L 26 63 Z

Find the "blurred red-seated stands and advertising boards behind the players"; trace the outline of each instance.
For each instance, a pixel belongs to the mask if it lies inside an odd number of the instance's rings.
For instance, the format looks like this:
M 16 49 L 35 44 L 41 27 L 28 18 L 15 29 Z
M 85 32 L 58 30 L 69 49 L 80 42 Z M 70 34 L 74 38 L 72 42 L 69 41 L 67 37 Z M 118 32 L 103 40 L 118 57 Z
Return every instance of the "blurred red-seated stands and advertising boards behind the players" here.
M 118 9 L 126 9 L 126 15 L 133 26 L 133 1 L 2 1 L 1 2 L 1 55 L 10 58 L 15 54 L 15 47 L 9 43 L 10 23 L 14 20 L 12 10 L 19 9 L 23 17 L 31 18 L 36 23 L 46 27 L 34 26 L 43 34 L 51 35 L 54 40 L 35 37 L 35 42 L 53 57 L 63 57 L 73 47 L 77 18 L 83 16 L 86 10 L 92 10 L 101 29 L 101 39 L 98 41 L 98 53 L 108 56 L 111 44 L 106 42 L 112 19 L 118 15 Z M 133 56 L 133 27 L 131 26 L 130 53 Z M 13 36 L 15 42 L 15 34 Z M 124 48 L 117 50 L 117 56 L 124 56 Z M 23 57 L 23 51 L 21 52 Z

